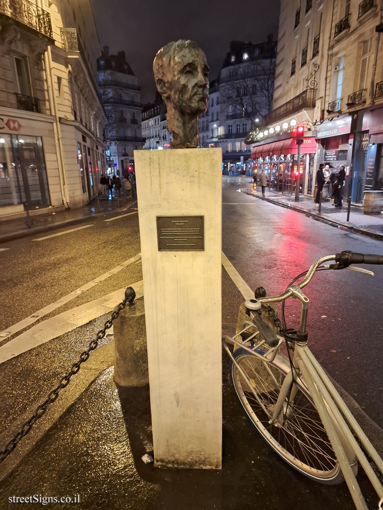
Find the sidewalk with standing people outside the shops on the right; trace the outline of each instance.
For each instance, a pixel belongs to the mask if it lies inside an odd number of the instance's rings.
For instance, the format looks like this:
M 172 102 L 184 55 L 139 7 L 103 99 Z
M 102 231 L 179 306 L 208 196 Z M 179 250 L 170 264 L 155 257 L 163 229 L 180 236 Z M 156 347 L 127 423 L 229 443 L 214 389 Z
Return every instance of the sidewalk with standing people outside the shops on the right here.
M 248 180 L 250 181 L 250 178 Z M 242 177 L 241 181 L 240 184 L 243 186 L 245 179 Z M 334 208 L 332 200 L 322 202 L 321 214 L 319 214 L 319 209 L 315 207 L 313 197 L 300 195 L 299 202 L 296 202 L 295 195 L 281 195 L 268 189 L 266 190 L 266 196 L 262 197 L 260 188 L 254 190 L 250 182 L 241 188 L 241 192 L 304 213 L 306 216 L 342 228 L 342 230 L 383 241 L 383 214 L 364 214 L 362 207 L 351 206 L 350 220 L 347 221 L 347 202 L 345 201 L 343 201 L 343 208 Z

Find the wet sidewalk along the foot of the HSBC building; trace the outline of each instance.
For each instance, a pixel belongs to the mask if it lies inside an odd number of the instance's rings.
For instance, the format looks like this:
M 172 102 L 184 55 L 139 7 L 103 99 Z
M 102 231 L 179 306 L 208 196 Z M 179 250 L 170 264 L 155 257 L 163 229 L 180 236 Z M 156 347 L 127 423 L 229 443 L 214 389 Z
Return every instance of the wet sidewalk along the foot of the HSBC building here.
M 54 228 L 76 225 L 106 214 L 125 211 L 137 204 L 135 198 L 126 198 L 121 192 L 118 197 L 113 195 L 99 195 L 92 198 L 86 206 L 78 209 L 67 209 L 63 211 L 50 212 L 47 214 L 30 216 L 31 227 L 28 227 L 27 216 L 17 219 L 3 220 L 0 222 L 0 243 L 12 241 L 20 237 L 32 236 L 41 232 L 49 232 Z M 100 206 L 100 210 L 99 210 Z

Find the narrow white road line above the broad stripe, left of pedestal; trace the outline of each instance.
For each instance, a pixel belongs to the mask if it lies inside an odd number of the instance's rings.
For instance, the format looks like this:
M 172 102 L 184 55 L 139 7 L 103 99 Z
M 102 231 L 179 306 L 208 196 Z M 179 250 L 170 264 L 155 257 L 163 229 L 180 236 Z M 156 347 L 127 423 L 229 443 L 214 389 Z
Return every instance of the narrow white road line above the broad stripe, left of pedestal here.
M 17 333 L 17 331 L 20 331 L 20 329 L 23 329 L 23 328 L 29 326 L 30 324 L 33 324 L 40 317 L 44 317 L 44 315 L 47 315 L 47 314 L 53 312 L 54 310 L 56 310 L 56 308 L 61 307 L 62 304 L 67 303 L 71 299 L 74 299 L 75 297 L 82 294 L 84 291 L 91 289 L 95 285 L 98 285 L 100 282 L 103 282 L 109 276 L 112 276 L 113 274 L 118 273 L 122 269 L 125 269 L 127 266 L 129 266 L 129 264 L 132 264 L 133 262 L 140 260 L 140 258 L 141 258 L 141 253 L 137 253 L 134 257 L 131 257 L 130 259 L 122 262 L 121 264 L 118 264 L 118 266 L 113 267 L 112 269 L 109 269 L 109 271 L 102 274 L 101 276 L 97 276 L 90 282 L 84 284 L 82 287 L 79 287 L 78 289 L 74 290 L 73 292 L 70 292 L 66 296 L 60 297 L 60 299 L 58 299 L 57 301 L 47 305 L 46 307 L 42 308 L 41 310 L 38 310 L 31 316 L 21 320 L 20 322 L 13 324 L 13 326 L 8 327 L 6 330 L 0 331 L 1 340 L 3 340 L 3 338 L 7 338 L 7 337 L 13 335 L 14 333 Z

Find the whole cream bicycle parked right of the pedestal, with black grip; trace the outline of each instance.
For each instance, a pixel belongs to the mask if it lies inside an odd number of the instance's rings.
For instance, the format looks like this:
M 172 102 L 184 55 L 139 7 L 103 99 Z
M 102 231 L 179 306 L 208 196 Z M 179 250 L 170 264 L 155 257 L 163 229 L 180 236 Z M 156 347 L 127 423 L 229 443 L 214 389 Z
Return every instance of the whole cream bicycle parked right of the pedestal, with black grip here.
M 334 264 L 322 266 L 325 262 Z M 356 481 L 358 463 L 383 498 L 383 461 L 352 416 L 325 371 L 307 347 L 307 296 L 302 292 L 318 270 L 352 269 L 351 264 L 383 264 L 383 256 L 342 251 L 318 259 L 279 296 L 267 297 L 263 287 L 245 302 L 249 321 L 233 337 L 224 336 L 231 358 L 230 377 L 248 417 L 285 462 L 305 476 L 327 484 L 345 480 L 357 510 L 368 510 Z M 320 267 L 322 266 L 322 267 Z M 295 282 L 301 281 L 297 284 Z M 297 330 L 286 328 L 284 303 L 301 303 Z M 282 303 L 282 321 L 271 303 Z M 274 329 L 262 318 L 268 314 Z M 234 346 L 233 352 L 229 344 Z M 287 356 L 280 351 L 285 344 Z M 363 448 L 363 450 L 362 450 Z M 370 462 L 375 465 L 375 469 Z

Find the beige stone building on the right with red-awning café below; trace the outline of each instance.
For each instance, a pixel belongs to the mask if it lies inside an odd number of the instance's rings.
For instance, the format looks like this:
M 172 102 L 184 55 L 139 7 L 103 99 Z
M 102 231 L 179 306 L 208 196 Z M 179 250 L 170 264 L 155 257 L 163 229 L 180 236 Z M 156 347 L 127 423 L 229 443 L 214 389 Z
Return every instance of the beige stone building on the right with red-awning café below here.
M 320 163 L 344 164 L 344 194 L 361 202 L 366 191 L 383 189 L 382 3 L 297 0 L 291 7 L 281 2 L 273 110 L 252 157 L 279 191 L 292 188 L 299 167 L 307 194 Z M 299 165 L 297 125 L 305 128 Z

